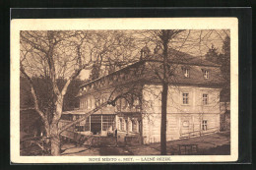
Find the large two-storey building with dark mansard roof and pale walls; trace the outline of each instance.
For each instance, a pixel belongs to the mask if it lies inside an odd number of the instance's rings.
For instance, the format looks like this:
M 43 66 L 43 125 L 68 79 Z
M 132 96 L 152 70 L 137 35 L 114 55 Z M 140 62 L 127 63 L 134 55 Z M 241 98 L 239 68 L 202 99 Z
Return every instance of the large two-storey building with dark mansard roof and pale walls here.
M 219 132 L 220 66 L 176 50 L 169 53 L 166 140 Z M 80 108 L 64 112 L 62 124 L 121 96 L 115 105 L 98 110 L 73 130 L 107 136 L 117 129 L 120 141 L 137 137 L 143 143 L 160 142 L 161 61 L 160 54 L 142 53 L 140 61 L 81 85 Z

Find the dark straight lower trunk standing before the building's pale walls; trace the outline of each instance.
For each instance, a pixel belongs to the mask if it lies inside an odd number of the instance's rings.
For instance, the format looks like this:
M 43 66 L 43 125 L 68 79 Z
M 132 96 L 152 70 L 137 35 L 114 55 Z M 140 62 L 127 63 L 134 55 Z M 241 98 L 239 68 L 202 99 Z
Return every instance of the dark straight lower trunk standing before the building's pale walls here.
M 166 155 L 166 113 L 168 84 L 163 83 L 161 91 L 160 154 Z

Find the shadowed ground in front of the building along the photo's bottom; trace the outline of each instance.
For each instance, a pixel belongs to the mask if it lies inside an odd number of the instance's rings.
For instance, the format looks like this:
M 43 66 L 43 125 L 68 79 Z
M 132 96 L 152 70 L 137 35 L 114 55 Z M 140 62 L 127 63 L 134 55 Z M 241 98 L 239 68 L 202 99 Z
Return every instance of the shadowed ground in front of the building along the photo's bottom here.
M 198 144 L 199 155 L 228 155 L 230 154 L 230 134 L 229 132 L 211 134 L 192 139 L 167 142 L 167 154 L 179 154 L 178 144 Z M 33 146 L 35 147 L 35 146 Z M 30 150 L 32 147 L 30 147 Z M 142 145 L 118 145 L 118 146 L 76 146 L 72 142 L 67 142 L 61 147 L 63 156 L 87 156 L 87 155 L 160 155 L 160 143 Z M 28 151 L 28 150 L 27 150 Z M 28 155 L 25 150 L 22 155 Z M 35 155 L 35 151 L 32 154 Z

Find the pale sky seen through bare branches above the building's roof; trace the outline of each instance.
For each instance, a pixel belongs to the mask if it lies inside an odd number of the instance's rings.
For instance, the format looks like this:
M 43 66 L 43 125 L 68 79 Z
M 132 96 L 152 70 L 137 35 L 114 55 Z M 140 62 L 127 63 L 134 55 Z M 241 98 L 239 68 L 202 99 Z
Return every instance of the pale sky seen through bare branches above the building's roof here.
M 140 51 L 145 45 L 150 48 L 151 53 L 154 53 L 154 49 L 157 43 L 159 43 L 159 36 L 156 36 L 156 32 L 160 31 L 150 29 L 114 29 L 56 32 L 55 37 L 64 37 L 64 40 L 60 41 L 54 49 L 54 63 L 57 77 L 69 77 L 79 67 L 78 56 L 82 56 L 82 63 L 96 61 L 99 57 L 103 58 L 104 62 L 108 64 L 109 62 L 113 64 L 116 61 L 122 64 L 138 61 Z M 48 36 L 46 31 L 26 30 L 22 33 L 33 44 L 41 45 L 42 48 L 47 49 Z M 70 37 L 69 35 L 73 33 L 75 35 Z M 224 37 L 229 35 L 229 33 L 229 30 L 223 29 L 185 29 L 179 32 L 176 37 L 171 38 L 169 48 L 180 50 L 195 57 L 202 57 L 212 45 L 219 49 L 219 52 L 222 52 Z M 78 53 L 78 44 L 81 44 L 79 48 L 80 54 Z M 21 61 L 30 76 L 40 76 L 47 72 L 48 65 L 43 56 L 44 53 L 36 51 L 29 43 L 24 41 L 21 43 Z M 88 79 L 90 73 L 90 70 L 82 71 L 80 79 Z

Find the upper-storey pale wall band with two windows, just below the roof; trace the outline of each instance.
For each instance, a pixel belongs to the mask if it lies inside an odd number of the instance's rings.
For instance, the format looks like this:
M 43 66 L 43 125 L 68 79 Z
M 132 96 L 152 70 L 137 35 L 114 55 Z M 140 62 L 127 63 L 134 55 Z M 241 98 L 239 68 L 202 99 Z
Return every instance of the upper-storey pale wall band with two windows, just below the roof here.
M 143 112 L 160 113 L 160 85 L 145 85 L 143 88 Z M 197 86 L 169 86 L 167 113 L 220 113 L 221 88 Z M 189 93 L 189 104 L 183 104 L 182 93 Z M 209 95 L 209 104 L 203 105 L 203 93 Z

